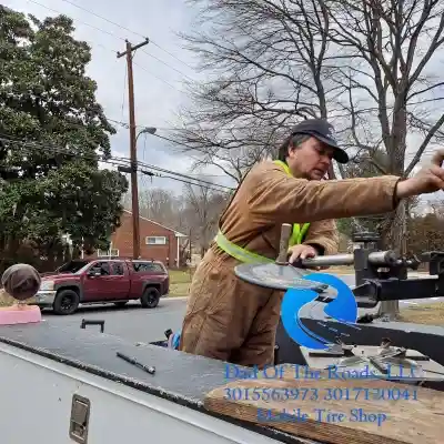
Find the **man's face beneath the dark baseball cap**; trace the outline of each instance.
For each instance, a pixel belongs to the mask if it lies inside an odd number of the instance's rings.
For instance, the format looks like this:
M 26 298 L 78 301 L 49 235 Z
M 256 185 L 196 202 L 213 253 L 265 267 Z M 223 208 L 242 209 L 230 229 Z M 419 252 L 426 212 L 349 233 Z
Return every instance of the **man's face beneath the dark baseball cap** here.
M 289 167 L 293 175 L 307 180 L 321 180 L 333 159 L 333 148 L 310 138 L 297 148 L 289 149 Z

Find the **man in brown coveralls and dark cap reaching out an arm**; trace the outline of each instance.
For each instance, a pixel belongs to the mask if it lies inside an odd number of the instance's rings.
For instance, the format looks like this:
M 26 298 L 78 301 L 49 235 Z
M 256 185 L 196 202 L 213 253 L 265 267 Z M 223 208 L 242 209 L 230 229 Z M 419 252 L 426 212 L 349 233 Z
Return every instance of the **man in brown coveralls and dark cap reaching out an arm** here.
M 290 262 L 334 254 L 334 219 L 390 212 L 401 199 L 444 189 L 444 150 L 411 179 L 322 181 L 333 159 L 349 160 L 332 132 L 324 120 L 306 120 L 293 129 L 279 160 L 261 162 L 246 174 L 194 273 L 179 350 L 260 369 L 273 363 L 283 292 L 236 278 L 233 269 L 241 261 L 226 253 L 226 242 L 275 260 L 281 225 L 304 224 L 295 225 Z

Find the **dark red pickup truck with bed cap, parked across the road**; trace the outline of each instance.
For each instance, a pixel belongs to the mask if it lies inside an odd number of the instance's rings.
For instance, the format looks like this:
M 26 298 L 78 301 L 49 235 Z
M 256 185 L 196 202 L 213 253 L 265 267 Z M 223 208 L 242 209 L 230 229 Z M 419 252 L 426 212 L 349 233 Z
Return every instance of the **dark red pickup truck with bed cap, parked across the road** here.
M 42 309 L 52 307 L 57 314 L 72 314 L 79 304 L 123 306 L 131 300 L 154 309 L 169 287 L 170 276 L 162 262 L 75 260 L 42 275 L 36 303 Z

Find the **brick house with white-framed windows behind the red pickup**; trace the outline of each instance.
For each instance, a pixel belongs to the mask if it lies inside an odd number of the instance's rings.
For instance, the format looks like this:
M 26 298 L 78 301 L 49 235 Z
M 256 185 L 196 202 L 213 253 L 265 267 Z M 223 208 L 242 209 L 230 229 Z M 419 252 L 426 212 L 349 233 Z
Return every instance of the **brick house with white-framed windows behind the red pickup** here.
M 110 250 L 98 250 L 88 258 L 128 256 L 132 258 L 132 213 L 124 210 L 121 225 L 111 235 Z M 140 255 L 142 259 L 162 261 L 168 268 L 176 268 L 185 234 L 164 226 L 147 218 L 140 218 Z

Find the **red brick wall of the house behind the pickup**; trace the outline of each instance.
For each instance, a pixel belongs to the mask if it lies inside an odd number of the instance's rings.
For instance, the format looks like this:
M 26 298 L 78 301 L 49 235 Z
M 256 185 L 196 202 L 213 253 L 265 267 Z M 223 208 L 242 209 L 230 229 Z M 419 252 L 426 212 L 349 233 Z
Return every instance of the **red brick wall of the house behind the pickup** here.
M 132 214 L 124 212 L 120 218 L 121 226 L 111 236 L 112 249 L 119 250 L 120 256 L 132 258 Z M 178 242 L 173 231 L 140 219 L 140 255 L 142 259 L 162 261 L 167 266 L 174 268 L 178 256 Z M 147 236 L 165 236 L 167 245 L 147 245 Z M 93 254 L 97 256 L 97 254 Z

